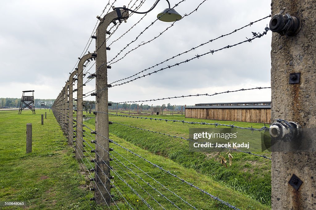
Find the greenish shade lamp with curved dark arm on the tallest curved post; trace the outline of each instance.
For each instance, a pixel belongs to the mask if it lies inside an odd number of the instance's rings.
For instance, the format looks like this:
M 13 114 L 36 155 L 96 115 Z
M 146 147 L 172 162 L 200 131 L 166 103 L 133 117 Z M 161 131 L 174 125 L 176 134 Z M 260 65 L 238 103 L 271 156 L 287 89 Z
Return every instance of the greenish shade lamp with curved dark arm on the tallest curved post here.
M 146 12 L 137 12 L 137 11 L 134 11 L 134 10 L 126 8 L 125 6 L 123 6 L 123 7 L 113 7 L 113 10 L 116 10 L 116 12 L 118 14 L 118 17 L 122 17 L 120 9 L 128 10 L 128 11 L 131 11 L 131 12 L 134 12 L 134 13 L 137 13 L 137 14 L 146 14 L 146 13 L 150 12 L 151 10 L 153 10 L 156 7 L 156 5 L 158 4 L 159 1 L 160 0 L 157 0 L 155 2 L 155 4 Z M 158 20 L 161 20 L 161 21 L 164 21 L 164 22 L 173 22 L 173 21 L 176 21 L 176 20 L 180 20 L 182 18 L 182 16 L 179 13 L 177 13 L 175 9 L 171 9 L 169 1 L 168 0 L 166 0 L 166 1 L 168 2 L 169 8 L 164 9 L 161 13 L 159 13 L 157 15 Z

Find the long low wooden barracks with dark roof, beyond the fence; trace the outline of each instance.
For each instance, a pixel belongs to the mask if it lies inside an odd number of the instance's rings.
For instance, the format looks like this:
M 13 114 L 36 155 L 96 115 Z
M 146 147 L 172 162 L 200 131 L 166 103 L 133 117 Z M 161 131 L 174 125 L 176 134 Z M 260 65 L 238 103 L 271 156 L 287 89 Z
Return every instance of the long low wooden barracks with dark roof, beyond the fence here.
M 185 117 L 270 123 L 271 102 L 207 103 L 185 107 Z

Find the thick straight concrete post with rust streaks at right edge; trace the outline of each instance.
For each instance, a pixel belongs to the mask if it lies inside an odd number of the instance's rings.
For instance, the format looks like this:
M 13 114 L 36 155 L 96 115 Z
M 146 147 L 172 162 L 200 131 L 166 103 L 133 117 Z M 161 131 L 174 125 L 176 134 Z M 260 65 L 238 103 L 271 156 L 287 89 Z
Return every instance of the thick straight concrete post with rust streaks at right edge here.
M 312 0 L 272 0 L 272 15 L 284 14 L 302 21 L 292 37 L 273 33 L 271 42 L 271 122 L 285 119 L 316 128 L 316 10 Z M 300 81 L 289 84 L 290 73 L 301 73 Z M 295 174 L 302 185 L 290 184 Z M 272 152 L 272 209 L 316 209 L 316 153 Z

